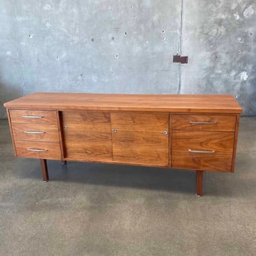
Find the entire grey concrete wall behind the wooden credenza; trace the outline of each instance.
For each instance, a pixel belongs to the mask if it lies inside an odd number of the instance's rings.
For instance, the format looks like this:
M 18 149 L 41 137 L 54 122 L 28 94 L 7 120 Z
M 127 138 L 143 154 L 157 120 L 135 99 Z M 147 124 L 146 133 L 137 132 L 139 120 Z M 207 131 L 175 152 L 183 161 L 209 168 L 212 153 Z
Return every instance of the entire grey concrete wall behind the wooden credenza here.
M 0 118 L 34 91 L 233 94 L 255 115 L 254 24 L 255 0 L 0 0 Z

